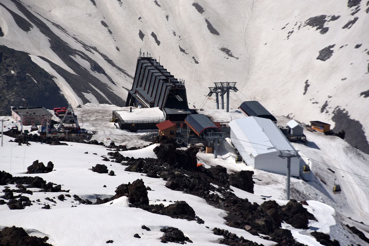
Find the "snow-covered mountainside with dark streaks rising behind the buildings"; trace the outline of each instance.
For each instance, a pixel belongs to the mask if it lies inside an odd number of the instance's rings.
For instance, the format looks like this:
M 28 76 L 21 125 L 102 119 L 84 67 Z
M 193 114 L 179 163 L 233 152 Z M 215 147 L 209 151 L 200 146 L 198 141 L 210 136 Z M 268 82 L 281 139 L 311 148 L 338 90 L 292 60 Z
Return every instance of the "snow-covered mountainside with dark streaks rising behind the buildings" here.
M 232 107 L 255 98 L 277 115 L 326 121 L 369 152 L 365 1 L 1 3 L 0 44 L 29 53 L 74 106 L 122 106 L 142 48 L 186 81 L 197 107 L 214 108 L 213 82 L 235 81 Z

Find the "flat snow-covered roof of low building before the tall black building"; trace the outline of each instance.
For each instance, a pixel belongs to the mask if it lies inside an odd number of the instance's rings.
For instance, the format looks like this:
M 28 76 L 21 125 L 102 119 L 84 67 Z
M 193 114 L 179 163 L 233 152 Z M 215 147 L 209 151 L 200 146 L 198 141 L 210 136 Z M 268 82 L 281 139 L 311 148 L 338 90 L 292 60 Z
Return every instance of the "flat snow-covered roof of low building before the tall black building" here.
M 127 120 L 153 120 L 156 122 L 162 122 L 165 120 L 162 110 L 158 107 L 156 108 L 133 108 L 130 112 L 130 107 L 127 110 L 117 110 L 115 111 L 123 121 Z

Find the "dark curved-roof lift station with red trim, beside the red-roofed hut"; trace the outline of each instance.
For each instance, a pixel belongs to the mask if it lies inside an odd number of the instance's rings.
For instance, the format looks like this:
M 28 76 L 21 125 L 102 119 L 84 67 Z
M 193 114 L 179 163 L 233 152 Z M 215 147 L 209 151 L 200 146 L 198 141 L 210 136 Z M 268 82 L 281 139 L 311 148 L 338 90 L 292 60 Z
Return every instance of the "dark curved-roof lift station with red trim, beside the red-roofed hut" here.
M 210 132 L 221 132 L 221 130 L 203 114 L 189 115 L 184 119 L 184 122 L 186 122 L 187 126 L 199 137 L 203 137 L 204 134 Z

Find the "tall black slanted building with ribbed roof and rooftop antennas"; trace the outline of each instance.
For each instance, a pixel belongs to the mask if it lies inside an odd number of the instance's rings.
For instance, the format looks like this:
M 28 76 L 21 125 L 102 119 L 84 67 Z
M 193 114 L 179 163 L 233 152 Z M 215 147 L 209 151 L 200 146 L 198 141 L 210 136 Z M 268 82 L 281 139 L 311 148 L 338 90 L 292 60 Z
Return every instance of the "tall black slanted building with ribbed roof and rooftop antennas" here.
M 152 57 L 138 57 L 126 106 L 159 107 L 165 119 L 181 121 L 190 114 L 184 83 Z

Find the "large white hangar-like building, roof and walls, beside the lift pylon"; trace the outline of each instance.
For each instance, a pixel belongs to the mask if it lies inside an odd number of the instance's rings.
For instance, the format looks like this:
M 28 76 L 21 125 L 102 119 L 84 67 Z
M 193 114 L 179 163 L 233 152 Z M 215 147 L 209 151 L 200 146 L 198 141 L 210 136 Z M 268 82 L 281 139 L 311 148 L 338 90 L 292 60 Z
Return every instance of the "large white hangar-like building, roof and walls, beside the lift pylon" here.
M 279 150 L 295 151 L 282 131 L 270 119 L 244 117 L 232 120 L 232 144 L 247 165 L 268 172 L 287 173 L 287 159 L 279 157 Z M 291 158 L 291 175 L 299 176 L 300 160 Z

